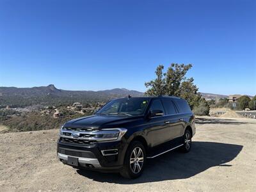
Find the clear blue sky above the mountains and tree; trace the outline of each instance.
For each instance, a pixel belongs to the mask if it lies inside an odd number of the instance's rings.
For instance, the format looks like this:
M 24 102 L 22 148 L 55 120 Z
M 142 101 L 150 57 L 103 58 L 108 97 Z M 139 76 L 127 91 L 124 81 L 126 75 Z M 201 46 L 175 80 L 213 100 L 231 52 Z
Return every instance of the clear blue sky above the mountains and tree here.
M 256 93 L 256 1 L 0 0 L 0 86 L 145 91 L 192 63 L 200 92 Z

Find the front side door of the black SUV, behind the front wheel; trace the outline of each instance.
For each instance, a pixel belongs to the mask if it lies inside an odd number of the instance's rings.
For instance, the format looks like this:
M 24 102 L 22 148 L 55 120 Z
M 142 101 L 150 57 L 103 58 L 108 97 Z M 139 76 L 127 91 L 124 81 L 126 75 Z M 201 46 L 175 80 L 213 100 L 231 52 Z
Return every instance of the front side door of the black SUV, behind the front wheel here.
M 162 116 L 154 116 L 148 118 L 147 123 L 147 139 L 151 147 L 159 145 L 169 140 L 168 138 L 168 124 L 166 124 L 166 116 L 161 99 L 152 99 L 150 111 L 161 110 L 164 112 Z

